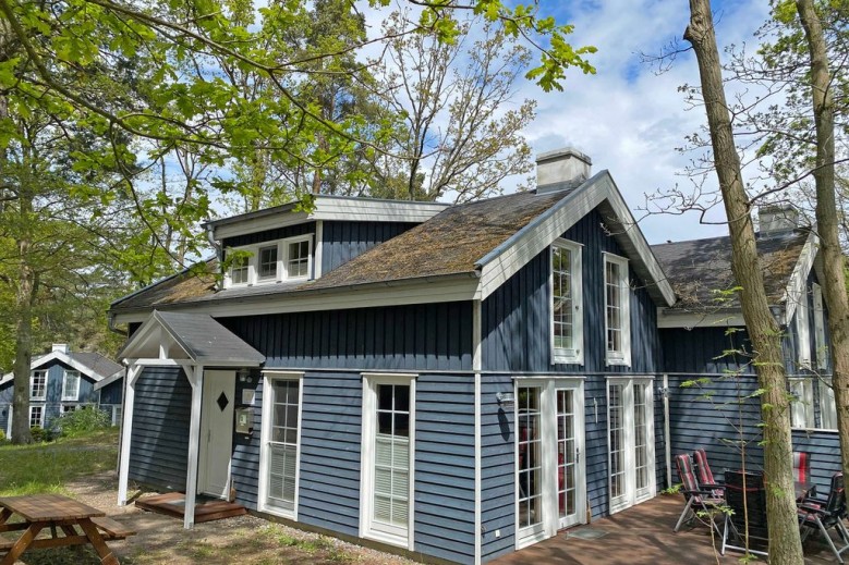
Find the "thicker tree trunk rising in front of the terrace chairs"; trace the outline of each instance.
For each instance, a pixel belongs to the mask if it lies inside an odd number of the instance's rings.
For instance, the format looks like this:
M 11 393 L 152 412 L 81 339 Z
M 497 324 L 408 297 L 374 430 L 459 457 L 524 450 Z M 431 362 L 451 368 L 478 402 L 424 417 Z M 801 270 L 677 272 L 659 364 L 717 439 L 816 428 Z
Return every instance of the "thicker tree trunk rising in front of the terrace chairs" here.
M 802 543 L 793 500 L 790 407 L 781 357 L 781 336 L 764 291 L 755 246 L 750 202 L 743 187 L 740 158 L 723 90 L 709 0 L 690 0 L 690 25 L 684 32 L 699 61 L 702 95 L 713 143 L 716 173 L 731 236 L 731 268 L 743 319 L 756 352 L 754 359 L 761 396 L 764 433 L 764 472 L 769 530 L 769 563 L 802 564 Z

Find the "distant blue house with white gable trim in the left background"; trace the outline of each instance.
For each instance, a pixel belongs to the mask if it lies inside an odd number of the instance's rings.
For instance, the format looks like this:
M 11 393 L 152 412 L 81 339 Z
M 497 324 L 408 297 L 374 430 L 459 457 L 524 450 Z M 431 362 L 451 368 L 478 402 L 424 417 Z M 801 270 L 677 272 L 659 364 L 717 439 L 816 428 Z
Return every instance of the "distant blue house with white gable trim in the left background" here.
M 53 344 L 50 353 L 35 357 L 29 372 L 29 425 L 49 427 L 62 414 L 85 406 L 106 410 L 113 425 L 121 419 L 124 369 L 97 353 L 71 352 Z M 10 435 L 14 376 L 0 378 L 0 430 Z

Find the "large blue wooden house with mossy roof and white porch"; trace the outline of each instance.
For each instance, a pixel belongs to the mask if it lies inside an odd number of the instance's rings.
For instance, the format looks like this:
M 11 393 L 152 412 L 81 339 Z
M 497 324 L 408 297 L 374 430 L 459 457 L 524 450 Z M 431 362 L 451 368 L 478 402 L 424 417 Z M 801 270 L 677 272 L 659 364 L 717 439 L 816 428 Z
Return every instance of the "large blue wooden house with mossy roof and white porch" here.
M 472 204 L 317 196 L 209 222 L 199 274 L 110 309 L 130 334 L 119 502 L 130 479 L 187 508 L 233 495 L 482 563 L 655 496 L 692 439 L 667 432 L 690 370 L 667 348 L 713 320 L 679 314 L 607 171 L 537 163 L 536 191 Z

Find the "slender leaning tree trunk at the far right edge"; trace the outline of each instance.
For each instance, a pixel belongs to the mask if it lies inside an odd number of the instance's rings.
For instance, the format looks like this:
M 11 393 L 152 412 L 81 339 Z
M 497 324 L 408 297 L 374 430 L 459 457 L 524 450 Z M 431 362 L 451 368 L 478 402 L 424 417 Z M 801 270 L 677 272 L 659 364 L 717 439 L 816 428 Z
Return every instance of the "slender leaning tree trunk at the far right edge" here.
M 849 304 L 838 235 L 834 171 L 834 100 L 823 26 L 812 0 L 797 0 L 811 56 L 811 95 L 816 125 L 816 230 L 823 258 L 823 297 L 832 334 L 834 397 L 844 475 L 849 476 Z

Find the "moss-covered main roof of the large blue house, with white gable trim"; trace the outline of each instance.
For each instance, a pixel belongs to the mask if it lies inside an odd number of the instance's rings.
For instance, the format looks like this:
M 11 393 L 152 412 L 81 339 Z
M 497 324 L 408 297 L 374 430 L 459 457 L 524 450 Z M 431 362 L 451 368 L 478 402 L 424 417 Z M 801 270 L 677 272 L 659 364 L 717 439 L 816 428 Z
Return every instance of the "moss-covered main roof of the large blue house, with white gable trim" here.
M 137 321 L 154 308 L 238 316 L 483 299 L 595 208 L 653 299 L 675 303 L 671 285 L 607 171 L 543 188 L 447 207 L 315 281 L 217 290 L 213 273 L 218 263 L 207 261 L 114 302 L 110 311 Z M 410 290 L 422 285 L 428 290 Z

